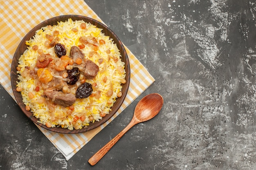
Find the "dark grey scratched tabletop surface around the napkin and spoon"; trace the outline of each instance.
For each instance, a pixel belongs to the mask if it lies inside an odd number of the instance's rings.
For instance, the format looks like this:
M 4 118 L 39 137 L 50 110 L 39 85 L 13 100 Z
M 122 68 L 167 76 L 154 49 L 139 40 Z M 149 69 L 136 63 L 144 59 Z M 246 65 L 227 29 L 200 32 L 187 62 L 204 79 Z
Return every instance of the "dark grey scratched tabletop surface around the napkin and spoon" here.
M 256 169 L 254 0 L 85 0 L 156 79 L 69 161 L 0 87 L 0 170 Z M 142 97 L 164 106 L 97 163 Z

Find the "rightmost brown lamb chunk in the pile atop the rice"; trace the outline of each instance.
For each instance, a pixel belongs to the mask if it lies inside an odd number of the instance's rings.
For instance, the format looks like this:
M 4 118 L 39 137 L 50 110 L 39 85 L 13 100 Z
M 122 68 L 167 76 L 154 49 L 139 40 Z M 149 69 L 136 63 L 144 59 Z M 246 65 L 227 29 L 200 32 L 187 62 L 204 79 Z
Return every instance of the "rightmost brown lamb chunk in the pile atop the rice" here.
M 99 66 L 91 60 L 86 60 L 85 69 L 83 71 L 86 79 L 93 79 L 99 72 Z

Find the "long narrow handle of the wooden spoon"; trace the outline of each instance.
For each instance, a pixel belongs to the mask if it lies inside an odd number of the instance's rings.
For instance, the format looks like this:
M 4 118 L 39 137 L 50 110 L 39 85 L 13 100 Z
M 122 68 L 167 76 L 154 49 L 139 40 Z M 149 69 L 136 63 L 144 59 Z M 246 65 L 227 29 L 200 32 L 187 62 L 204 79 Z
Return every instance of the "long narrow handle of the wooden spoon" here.
M 133 117 L 130 123 L 121 131 L 117 136 L 115 136 L 112 140 L 110 140 L 105 146 L 103 146 L 98 152 L 96 152 L 88 162 L 94 166 L 111 148 L 114 146 L 117 141 L 135 124 L 138 124 L 140 121 Z

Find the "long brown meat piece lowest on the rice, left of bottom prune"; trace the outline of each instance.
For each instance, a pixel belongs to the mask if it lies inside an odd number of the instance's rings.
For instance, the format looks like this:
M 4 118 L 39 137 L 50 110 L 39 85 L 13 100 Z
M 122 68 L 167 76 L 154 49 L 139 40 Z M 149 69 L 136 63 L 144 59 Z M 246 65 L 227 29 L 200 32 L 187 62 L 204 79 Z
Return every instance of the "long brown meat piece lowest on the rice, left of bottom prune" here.
M 63 93 L 62 91 L 45 91 L 44 95 L 49 97 L 55 104 L 68 107 L 76 102 L 76 96 L 72 93 Z

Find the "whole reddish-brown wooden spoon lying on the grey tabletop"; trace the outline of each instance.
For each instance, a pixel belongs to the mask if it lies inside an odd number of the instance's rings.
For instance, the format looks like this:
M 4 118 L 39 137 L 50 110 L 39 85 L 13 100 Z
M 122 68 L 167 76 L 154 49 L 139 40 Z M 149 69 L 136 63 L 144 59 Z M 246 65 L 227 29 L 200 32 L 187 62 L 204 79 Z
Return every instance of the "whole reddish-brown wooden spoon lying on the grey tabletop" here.
M 152 119 L 159 113 L 164 104 L 164 99 L 157 93 L 149 94 L 143 97 L 135 107 L 134 115 L 130 123 L 122 130 L 116 137 L 103 146 L 98 152 L 96 152 L 90 159 L 89 163 L 95 165 L 117 141 L 130 129 L 132 126 Z

